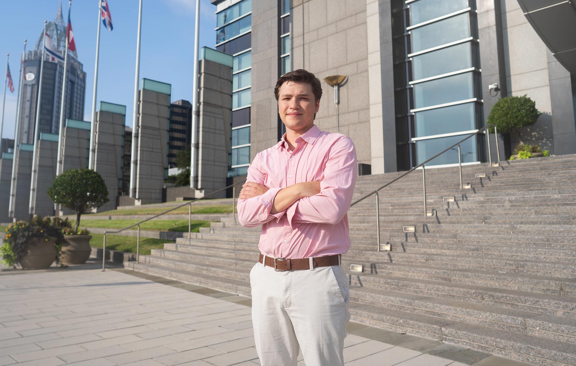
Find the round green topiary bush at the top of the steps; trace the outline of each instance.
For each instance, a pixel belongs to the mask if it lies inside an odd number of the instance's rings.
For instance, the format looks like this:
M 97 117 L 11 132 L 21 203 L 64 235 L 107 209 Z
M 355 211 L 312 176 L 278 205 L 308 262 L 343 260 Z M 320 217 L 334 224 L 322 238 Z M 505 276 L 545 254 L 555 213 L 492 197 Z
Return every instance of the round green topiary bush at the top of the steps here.
M 509 149 L 508 134 L 514 132 L 518 136 L 520 144 L 524 145 L 522 129 L 534 125 L 541 114 L 542 112 L 536 108 L 536 102 L 528 96 L 504 97 L 492 106 L 487 123 L 495 124 L 499 133 L 508 136 L 506 148 Z M 490 132 L 494 132 L 494 128 L 490 128 Z M 514 152 L 517 153 L 517 151 Z

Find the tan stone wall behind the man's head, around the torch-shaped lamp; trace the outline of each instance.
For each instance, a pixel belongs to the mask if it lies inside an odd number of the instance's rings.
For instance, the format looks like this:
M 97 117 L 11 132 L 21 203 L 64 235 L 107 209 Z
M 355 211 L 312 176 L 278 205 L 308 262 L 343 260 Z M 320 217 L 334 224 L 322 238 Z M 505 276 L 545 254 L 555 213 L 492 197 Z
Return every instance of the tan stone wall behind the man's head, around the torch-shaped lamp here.
M 373 6 L 371 9 L 373 12 Z M 347 83 L 340 87 L 339 132 L 354 141 L 358 162 L 372 163 L 370 103 L 378 104 L 380 93 L 376 90 L 378 85 L 369 83 L 366 0 L 294 0 L 291 13 L 293 70 L 304 68 L 314 73 L 322 84 L 323 97 L 315 123 L 323 131 L 338 132 L 334 87 L 323 78 L 347 75 Z M 374 22 L 371 25 L 375 27 Z M 377 26 L 374 29 L 378 29 Z M 272 42 L 278 43 L 278 37 L 272 38 Z M 255 44 L 258 45 L 254 42 L 252 47 Z M 372 101 L 369 86 L 374 89 Z M 273 97 L 271 104 L 277 113 Z M 381 113 L 374 113 L 373 117 L 381 118 L 378 115 Z

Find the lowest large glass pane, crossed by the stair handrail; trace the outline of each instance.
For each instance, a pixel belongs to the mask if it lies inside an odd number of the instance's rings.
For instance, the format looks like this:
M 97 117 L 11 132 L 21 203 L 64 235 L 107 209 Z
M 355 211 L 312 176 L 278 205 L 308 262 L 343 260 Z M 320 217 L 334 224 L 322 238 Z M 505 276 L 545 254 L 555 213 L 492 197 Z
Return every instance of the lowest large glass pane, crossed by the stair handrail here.
M 427 159 L 430 159 L 434 155 L 438 154 L 438 152 L 444 150 L 448 146 L 457 143 L 465 137 L 465 135 L 458 135 L 450 136 L 447 138 L 416 141 L 416 165 L 425 162 Z M 478 161 L 478 146 L 476 143 L 476 136 L 469 138 L 460 144 L 460 155 L 463 163 Z M 458 147 L 455 146 L 452 149 L 444 152 L 444 154 L 440 155 L 439 157 L 428 162 L 426 166 L 457 163 Z

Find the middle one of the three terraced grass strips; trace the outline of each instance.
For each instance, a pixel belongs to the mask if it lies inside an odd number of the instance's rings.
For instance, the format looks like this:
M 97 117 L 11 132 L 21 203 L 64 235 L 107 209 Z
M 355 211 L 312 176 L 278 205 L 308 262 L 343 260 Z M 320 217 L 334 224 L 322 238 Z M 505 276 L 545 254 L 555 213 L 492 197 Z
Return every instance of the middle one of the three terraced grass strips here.
M 74 226 L 76 220 L 71 220 Z M 124 228 L 140 220 L 82 220 L 80 227 Z M 192 220 L 192 232 L 200 232 L 200 227 L 210 227 L 210 221 Z M 137 227 L 132 227 L 136 230 Z M 188 232 L 188 220 L 150 220 L 140 225 L 141 230 Z

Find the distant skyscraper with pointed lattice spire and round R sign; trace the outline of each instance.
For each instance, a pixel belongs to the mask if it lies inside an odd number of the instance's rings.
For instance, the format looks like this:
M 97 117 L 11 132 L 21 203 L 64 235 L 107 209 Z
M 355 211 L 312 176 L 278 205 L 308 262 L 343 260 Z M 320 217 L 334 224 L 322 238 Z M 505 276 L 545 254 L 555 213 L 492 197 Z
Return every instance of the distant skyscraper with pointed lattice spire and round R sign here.
M 66 48 L 66 24 L 62 17 L 62 3 L 53 21 L 46 25 L 46 32 L 54 42 L 55 48 L 64 55 Z M 36 42 L 36 47 L 28 51 L 26 57 L 26 74 L 23 83 L 22 104 L 20 113 L 20 142 L 34 143 L 36 123 L 36 106 L 40 82 L 40 62 L 43 48 L 43 32 Z M 86 94 L 86 73 L 82 63 L 78 62 L 76 52 L 68 51 L 68 68 L 66 71 L 67 86 L 65 100 L 65 118 L 84 120 L 84 98 Z M 62 98 L 62 75 L 64 62 L 44 56 L 42 75 L 42 93 L 40 101 L 39 132 L 58 134 L 60 124 L 60 100 Z

